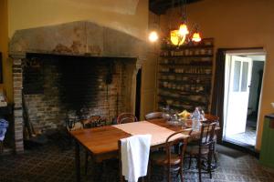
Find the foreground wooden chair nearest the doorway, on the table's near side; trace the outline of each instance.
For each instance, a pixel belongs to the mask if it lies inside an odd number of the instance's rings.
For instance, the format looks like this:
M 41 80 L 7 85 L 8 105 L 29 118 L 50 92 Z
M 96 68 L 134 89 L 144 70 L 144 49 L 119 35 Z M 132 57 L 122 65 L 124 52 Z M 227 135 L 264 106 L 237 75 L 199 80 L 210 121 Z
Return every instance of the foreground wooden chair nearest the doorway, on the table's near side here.
M 210 178 L 212 178 L 211 173 L 211 162 L 212 156 L 214 154 L 214 144 L 215 144 L 215 128 L 216 122 L 204 123 L 201 127 L 201 134 L 199 137 L 197 146 L 189 146 L 186 149 L 186 155 L 189 156 L 189 167 L 191 167 L 191 161 L 194 157 L 197 161 L 197 167 L 199 172 L 199 181 L 202 181 L 202 160 L 204 159 L 207 163 L 206 171 L 209 173 Z

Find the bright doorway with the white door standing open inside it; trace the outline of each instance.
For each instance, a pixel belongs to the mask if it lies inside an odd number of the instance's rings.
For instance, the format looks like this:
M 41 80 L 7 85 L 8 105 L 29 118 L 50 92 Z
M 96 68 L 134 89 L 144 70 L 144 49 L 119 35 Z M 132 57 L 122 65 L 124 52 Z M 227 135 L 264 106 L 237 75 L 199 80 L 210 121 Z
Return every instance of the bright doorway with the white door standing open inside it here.
M 265 60 L 258 50 L 226 53 L 223 141 L 255 147 Z

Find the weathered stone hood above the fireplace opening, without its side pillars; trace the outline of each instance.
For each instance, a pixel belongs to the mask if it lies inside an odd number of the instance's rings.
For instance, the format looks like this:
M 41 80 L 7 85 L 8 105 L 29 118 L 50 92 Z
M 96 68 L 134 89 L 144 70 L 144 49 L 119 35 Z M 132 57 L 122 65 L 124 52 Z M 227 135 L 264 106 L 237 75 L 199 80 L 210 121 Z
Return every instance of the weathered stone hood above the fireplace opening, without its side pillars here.
M 137 37 L 82 21 L 18 30 L 9 45 L 10 56 L 42 53 L 142 60 L 145 50 L 146 43 Z

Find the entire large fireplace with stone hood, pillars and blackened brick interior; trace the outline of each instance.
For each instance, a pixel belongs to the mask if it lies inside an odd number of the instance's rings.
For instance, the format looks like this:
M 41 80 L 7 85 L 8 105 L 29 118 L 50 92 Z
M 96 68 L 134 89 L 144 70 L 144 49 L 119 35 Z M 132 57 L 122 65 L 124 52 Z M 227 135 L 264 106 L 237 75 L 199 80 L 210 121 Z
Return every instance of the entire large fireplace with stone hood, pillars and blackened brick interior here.
M 24 151 L 23 106 L 35 129 L 64 124 L 68 112 L 111 119 L 134 112 L 145 42 L 90 22 L 19 30 L 10 42 L 16 152 Z

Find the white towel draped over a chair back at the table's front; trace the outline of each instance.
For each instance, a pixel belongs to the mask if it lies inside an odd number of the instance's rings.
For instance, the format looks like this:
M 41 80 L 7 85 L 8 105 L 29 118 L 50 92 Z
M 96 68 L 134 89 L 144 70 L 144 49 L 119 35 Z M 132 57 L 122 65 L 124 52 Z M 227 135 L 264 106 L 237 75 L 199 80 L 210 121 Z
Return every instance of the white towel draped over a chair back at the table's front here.
M 136 135 L 121 139 L 121 171 L 129 182 L 137 182 L 147 174 L 152 135 Z

